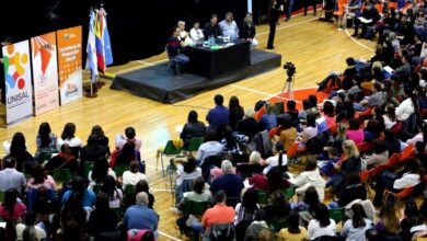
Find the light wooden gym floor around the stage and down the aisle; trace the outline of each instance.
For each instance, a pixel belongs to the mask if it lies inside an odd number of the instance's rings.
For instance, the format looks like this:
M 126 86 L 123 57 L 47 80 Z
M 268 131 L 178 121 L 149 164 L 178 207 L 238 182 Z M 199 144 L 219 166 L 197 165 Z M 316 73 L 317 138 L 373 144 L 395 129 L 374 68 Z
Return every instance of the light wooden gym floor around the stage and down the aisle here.
M 268 26 L 257 27 L 258 48 L 265 49 Z M 351 33 L 350 33 L 351 34 Z M 282 56 L 282 64 L 292 61 L 297 67 L 295 89 L 315 87 L 332 70 L 343 71 L 345 59 L 349 56 L 369 59 L 374 43 L 353 41 L 346 32 L 338 32 L 336 25 L 321 22 L 314 16 L 296 16 L 290 22 L 277 26 L 275 53 Z M 114 46 L 113 46 L 114 47 Z M 162 54 L 149 59 L 132 61 L 124 66 L 108 68 L 112 73 L 123 73 L 165 61 Z M 24 133 L 31 152 L 35 151 L 35 136 L 38 125 L 50 123 L 53 131 L 60 135 L 68 122 L 77 125 L 77 136 L 85 140 L 93 125 L 99 124 L 114 141 L 114 136 L 124 133 L 125 127 L 134 126 L 138 138 L 142 139 L 142 159 L 147 163 L 150 186 L 154 191 L 155 210 L 160 215 L 160 240 L 180 239 L 175 227 L 176 216 L 170 209 L 172 199 L 165 180 L 155 171 L 155 150 L 166 140 L 177 138 L 176 125 L 184 125 L 187 113 L 196 110 L 204 119 L 207 110 L 214 105 L 214 95 L 221 93 L 226 103 L 232 95 L 240 99 L 244 107 L 253 107 L 258 100 L 281 91 L 287 76 L 282 68 L 254 78 L 242 80 L 217 90 L 205 92 L 189 100 L 169 105 L 141 99 L 122 91 L 109 90 L 107 81 L 99 92 L 99 97 L 83 97 L 64 107 L 27 119 L 10 128 L 0 129 L 0 141 L 10 140 L 15 131 Z M 0 150 L 0 154 L 3 150 Z M 171 236 L 172 238 L 168 238 Z

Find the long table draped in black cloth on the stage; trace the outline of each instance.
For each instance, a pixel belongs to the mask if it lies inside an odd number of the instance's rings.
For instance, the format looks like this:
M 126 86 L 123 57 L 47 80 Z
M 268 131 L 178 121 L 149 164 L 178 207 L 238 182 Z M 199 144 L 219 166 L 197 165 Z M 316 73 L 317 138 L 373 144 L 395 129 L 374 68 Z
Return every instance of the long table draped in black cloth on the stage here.
M 251 65 L 251 43 L 236 39 L 232 45 L 221 44 L 218 49 L 203 45 L 187 46 L 189 62 L 185 71 L 212 79 Z

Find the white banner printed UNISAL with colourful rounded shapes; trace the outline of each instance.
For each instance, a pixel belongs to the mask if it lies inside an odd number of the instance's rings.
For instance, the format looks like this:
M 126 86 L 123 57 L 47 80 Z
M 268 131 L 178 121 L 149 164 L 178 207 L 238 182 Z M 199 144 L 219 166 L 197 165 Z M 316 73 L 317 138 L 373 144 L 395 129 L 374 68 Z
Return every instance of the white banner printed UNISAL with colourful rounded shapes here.
M 5 123 L 8 126 L 33 115 L 28 44 L 28 41 L 23 41 L 2 48 L 7 99 Z

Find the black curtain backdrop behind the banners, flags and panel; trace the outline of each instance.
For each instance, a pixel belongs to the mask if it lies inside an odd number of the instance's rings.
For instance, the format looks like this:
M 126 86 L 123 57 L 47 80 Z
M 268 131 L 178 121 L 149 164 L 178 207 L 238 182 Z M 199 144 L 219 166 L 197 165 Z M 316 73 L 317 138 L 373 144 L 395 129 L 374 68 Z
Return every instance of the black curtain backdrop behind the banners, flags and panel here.
M 83 25 L 85 49 L 89 10 L 95 3 L 100 1 L 4 1 L 0 35 L 19 42 L 49 31 Z M 195 20 L 203 25 L 211 13 L 218 14 L 220 21 L 226 12 L 231 11 L 240 24 L 247 9 L 246 0 L 104 0 L 104 4 L 114 65 L 162 53 L 178 20 L 186 21 L 189 30 Z

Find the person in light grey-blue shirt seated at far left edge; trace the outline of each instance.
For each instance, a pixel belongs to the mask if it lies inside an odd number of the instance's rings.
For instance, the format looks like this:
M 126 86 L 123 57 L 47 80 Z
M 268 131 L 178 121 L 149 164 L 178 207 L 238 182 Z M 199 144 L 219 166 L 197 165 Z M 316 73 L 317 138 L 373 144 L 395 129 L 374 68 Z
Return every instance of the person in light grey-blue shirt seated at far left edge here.
M 0 171 L 0 190 L 8 191 L 16 190 L 22 194 L 25 190 L 26 180 L 22 172 L 16 171 L 16 159 L 12 156 L 7 156 L 3 159 L 4 170 Z

